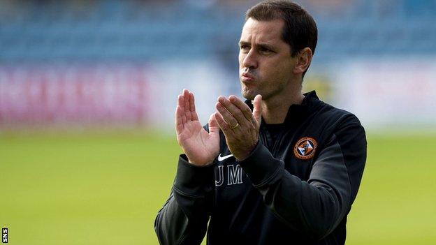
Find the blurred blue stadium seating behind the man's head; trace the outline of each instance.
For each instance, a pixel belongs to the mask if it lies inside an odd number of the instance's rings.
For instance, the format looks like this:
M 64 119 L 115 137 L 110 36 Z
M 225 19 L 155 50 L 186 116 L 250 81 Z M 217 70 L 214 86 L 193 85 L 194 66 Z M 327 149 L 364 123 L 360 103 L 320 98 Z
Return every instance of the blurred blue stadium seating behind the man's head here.
M 201 6 L 194 1 L 6 2 L 0 3 L 1 62 L 153 61 L 232 53 L 245 10 L 221 1 Z M 314 2 L 300 1 L 319 24 L 321 61 L 436 52 L 435 1 L 326 1 L 327 7 Z

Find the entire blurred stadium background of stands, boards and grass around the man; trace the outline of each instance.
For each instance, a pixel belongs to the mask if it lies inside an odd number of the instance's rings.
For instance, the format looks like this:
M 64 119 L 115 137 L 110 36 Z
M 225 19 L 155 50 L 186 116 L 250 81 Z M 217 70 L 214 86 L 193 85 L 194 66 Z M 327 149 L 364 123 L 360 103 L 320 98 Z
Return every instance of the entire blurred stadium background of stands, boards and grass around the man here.
M 158 244 L 187 88 L 205 124 L 240 96 L 258 1 L 0 0 L 0 225 L 10 244 Z M 304 91 L 354 112 L 368 161 L 347 244 L 435 244 L 436 1 L 300 0 Z

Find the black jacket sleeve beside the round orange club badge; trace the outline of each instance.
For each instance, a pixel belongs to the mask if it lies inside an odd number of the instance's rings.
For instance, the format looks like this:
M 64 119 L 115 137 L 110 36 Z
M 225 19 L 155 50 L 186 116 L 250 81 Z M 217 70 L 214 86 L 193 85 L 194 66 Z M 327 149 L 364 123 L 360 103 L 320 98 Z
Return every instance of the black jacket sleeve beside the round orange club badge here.
M 294 230 L 322 239 L 351 209 L 365 161 L 365 131 L 352 115 L 321 149 L 307 181 L 286 171 L 284 162 L 260 142 L 240 165 L 277 218 Z

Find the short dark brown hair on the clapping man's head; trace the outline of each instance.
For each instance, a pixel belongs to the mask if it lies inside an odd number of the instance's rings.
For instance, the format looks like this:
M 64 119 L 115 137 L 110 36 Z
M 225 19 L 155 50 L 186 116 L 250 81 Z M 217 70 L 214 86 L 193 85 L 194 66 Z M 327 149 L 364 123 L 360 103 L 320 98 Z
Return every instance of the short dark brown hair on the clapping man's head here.
M 284 20 L 282 39 L 291 46 L 292 57 L 305 47 L 309 47 L 312 54 L 315 53 L 317 24 L 312 15 L 297 3 L 285 0 L 262 1 L 247 10 L 245 22 L 250 17 L 258 21 Z

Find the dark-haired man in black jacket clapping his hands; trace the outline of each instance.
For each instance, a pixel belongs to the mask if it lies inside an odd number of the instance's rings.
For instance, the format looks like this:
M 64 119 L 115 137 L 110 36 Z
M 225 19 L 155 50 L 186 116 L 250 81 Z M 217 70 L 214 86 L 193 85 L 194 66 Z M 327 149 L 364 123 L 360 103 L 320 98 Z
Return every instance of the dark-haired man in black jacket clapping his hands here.
M 349 112 L 301 94 L 317 44 L 296 3 L 247 11 L 240 38 L 242 102 L 219 96 L 203 128 L 194 94 L 177 99 L 184 154 L 155 221 L 161 244 L 344 244 L 366 159 Z

